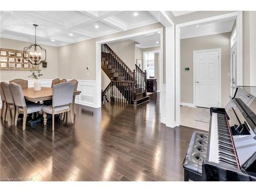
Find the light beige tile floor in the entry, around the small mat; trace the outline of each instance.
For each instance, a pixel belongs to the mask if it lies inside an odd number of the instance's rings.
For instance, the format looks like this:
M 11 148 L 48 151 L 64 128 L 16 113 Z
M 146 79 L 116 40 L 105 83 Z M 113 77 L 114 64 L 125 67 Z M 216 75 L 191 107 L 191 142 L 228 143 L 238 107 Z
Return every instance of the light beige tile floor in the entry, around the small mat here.
M 182 105 L 180 108 L 180 124 L 199 130 L 209 131 L 209 123 L 195 120 L 198 109 L 199 108 L 190 108 L 189 106 Z

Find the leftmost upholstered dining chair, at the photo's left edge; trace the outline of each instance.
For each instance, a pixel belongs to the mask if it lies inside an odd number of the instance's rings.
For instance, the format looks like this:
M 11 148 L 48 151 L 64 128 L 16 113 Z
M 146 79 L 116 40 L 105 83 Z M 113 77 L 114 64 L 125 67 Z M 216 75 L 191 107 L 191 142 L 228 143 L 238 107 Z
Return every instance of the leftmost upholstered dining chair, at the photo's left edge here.
M 14 104 L 12 92 L 10 90 L 10 85 L 7 82 L 2 82 L 2 87 L 4 90 L 4 94 L 5 94 L 6 109 L 7 109 L 5 121 L 8 121 L 9 115 L 11 114 L 12 115 L 12 124 L 14 124 L 15 104 Z

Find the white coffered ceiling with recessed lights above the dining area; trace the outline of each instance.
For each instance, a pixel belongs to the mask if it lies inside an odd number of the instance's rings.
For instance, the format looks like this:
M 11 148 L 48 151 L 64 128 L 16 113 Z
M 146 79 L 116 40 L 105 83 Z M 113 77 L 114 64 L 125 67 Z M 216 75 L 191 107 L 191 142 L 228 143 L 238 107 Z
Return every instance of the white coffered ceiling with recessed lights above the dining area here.
M 157 23 L 148 11 L 1 11 L 0 37 L 62 46 Z

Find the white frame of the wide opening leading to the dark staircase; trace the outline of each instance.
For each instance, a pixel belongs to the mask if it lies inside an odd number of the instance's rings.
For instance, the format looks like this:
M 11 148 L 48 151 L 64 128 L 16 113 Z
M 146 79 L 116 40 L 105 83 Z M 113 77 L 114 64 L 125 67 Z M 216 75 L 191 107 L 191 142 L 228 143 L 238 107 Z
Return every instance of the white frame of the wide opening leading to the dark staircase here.
M 163 28 L 156 28 L 152 30 L 147 30 L 147 31 L 141 31 L 138 33 L 132 33 L 128 35 L 121 35 L 117 36 L 114 38 L 106 38 L 103 40 L 98 40 L 96 41 L 96 108 L 101 108 L 101 44 L 105 44 L 106 42 L 113 42 L 113 41 L 119 41 L 122 39 L 127 39 L 131 37 L 135 37 L 138 35 L 144 35 L 148 33 L 153 33 L 153 32 L 158 32 L 160 31 L 160 65 L 159 69 L 161 72 L 161 76 L 159 77 L 160 79 L 160 87 L 163 86 L 163 44 L 164 44 L 164 38 L 163 38 Z M 135 65 L 135 62 L 134 62 Z M 161 88 L 160 88 L 161 89 Z

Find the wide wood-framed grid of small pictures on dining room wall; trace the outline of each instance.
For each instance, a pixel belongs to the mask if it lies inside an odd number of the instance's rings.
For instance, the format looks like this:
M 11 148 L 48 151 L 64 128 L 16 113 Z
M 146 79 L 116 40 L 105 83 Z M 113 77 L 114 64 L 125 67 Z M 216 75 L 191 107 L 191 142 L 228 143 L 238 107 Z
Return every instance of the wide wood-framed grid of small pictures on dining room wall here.
M 28 63 L 23 57 L 23 51 L 0 48 L 0 70 L 37 71 L 39 65 Z

